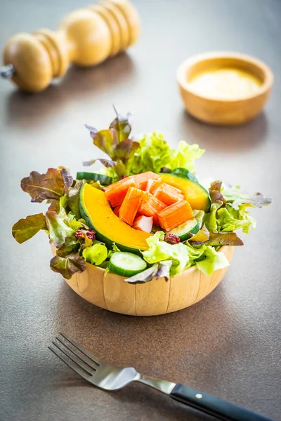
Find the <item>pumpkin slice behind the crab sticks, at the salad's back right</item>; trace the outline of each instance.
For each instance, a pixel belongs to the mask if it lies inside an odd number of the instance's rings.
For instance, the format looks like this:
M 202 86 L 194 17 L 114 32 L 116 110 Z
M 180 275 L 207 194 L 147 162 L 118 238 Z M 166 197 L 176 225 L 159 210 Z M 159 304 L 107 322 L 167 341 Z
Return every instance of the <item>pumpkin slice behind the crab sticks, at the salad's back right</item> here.
M 192 209 L 202 209 L 205 212 L 209 212 L 211 206 L 209 193 L 202 185 L 171 173 L 161 173 L 159 175 L 166 184 L 176 187 L 183 192 L 185 200 L 190 203 Z

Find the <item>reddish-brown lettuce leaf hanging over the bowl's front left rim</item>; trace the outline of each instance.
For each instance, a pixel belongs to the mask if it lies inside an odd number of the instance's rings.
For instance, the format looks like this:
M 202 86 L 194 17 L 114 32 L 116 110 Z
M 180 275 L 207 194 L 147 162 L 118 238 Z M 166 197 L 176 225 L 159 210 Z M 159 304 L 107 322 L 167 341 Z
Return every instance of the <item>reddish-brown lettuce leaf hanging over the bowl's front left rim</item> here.
M 53 272 L 58 272 L 65 279 L 70 279 L 73 274 L 81 274 L 86 269 L 86 262 L 80 257 L 79 253 L 72 253 L 65 258 L 55 255 L 51 259 L 50 267 Z

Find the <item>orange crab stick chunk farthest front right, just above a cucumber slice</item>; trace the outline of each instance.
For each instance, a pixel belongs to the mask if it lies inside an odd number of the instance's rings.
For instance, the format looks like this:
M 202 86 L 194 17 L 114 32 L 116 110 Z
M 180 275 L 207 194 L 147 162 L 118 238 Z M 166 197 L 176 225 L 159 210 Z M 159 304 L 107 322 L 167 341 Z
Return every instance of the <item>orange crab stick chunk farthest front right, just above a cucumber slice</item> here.
M 178 225 L 193 218 L 193 211 L 186 200 L 180 200 L 173 205 L 167 206 L 158 213 L 159 225 L 166 231 L 170 231 Z

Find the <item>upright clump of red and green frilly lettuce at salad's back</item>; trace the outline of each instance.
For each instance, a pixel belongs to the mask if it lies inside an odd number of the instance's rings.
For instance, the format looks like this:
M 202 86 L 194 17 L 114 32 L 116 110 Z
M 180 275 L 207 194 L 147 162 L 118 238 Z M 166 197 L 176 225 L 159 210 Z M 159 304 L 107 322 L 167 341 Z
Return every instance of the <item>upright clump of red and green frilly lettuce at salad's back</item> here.
M 115 110 L 116 112 L 116 110 Z M 130 138 L 131 135 L 131 114 L 121 116 L 116 112 L 116 118 L 105 130 L 98 131 L 92 126 L 86 125 L 90 131 L 93 144 L 101 149 L 108 159 L 100 159 L 105 168 L 102 172 L 110 175 L 114 181 L 119 180 L 122 175 L 133 175 L 154 171 L 159 173 L 161 168 L 182 167 L 190 171 L 194 170 L 195 159 L 199 159 L 204 149 L 198 145 L 188 145 L 183 140 L 178 143 L 176 149 L 171 149 L 164 140 L 162 133 L 153 132 L 136 141 Z M 98 161 L 92 159 L 84 162 L 89 166 Z

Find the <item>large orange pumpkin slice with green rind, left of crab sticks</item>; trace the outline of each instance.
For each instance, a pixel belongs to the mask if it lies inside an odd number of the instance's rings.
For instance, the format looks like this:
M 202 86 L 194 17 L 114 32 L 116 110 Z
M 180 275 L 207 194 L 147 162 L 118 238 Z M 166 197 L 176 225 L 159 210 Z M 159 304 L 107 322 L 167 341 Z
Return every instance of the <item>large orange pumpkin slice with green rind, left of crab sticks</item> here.
M 105 192 L 85 183 L 80 190 L 80 213 L 86 224 L 96 231 L 96 238 L 108 247 L 116 243 L 122 251 L 140 254 L 147 250 L 146 239 L 152 234 L 129 227 L 110 208 Z

